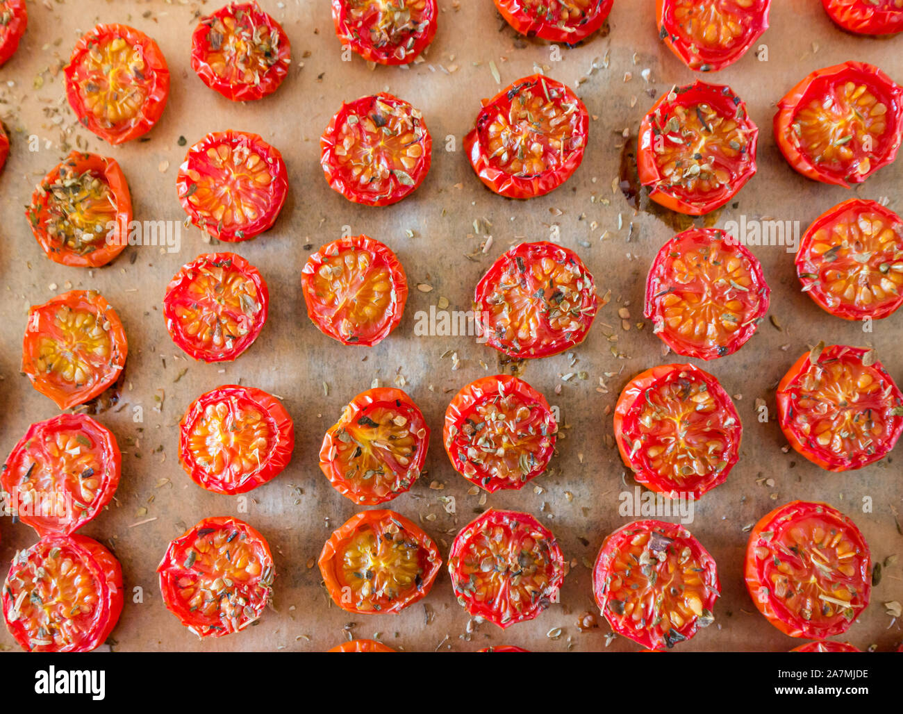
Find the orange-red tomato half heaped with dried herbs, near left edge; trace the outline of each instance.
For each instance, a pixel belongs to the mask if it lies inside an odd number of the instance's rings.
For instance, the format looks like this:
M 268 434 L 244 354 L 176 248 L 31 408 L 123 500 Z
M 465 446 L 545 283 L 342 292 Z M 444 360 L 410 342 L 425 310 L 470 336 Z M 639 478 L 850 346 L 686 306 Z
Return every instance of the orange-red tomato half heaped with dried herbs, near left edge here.
M 54 263 L 96 268 L 128 245 L 132 196 L 116 159 L 72 152 L 38 184 L 25 217 Z

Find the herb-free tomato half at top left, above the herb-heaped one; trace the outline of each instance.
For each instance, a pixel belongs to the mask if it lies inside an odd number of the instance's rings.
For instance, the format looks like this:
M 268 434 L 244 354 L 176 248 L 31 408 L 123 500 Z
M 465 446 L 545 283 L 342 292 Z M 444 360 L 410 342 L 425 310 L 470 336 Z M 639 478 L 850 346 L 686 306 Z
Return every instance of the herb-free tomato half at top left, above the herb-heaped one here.
M 149 132 L 169 97 L 163 52 L 144 32 L 124 24 L 98 24 L 76 42 L 63 71 L 79 122 L 110 144 Z

